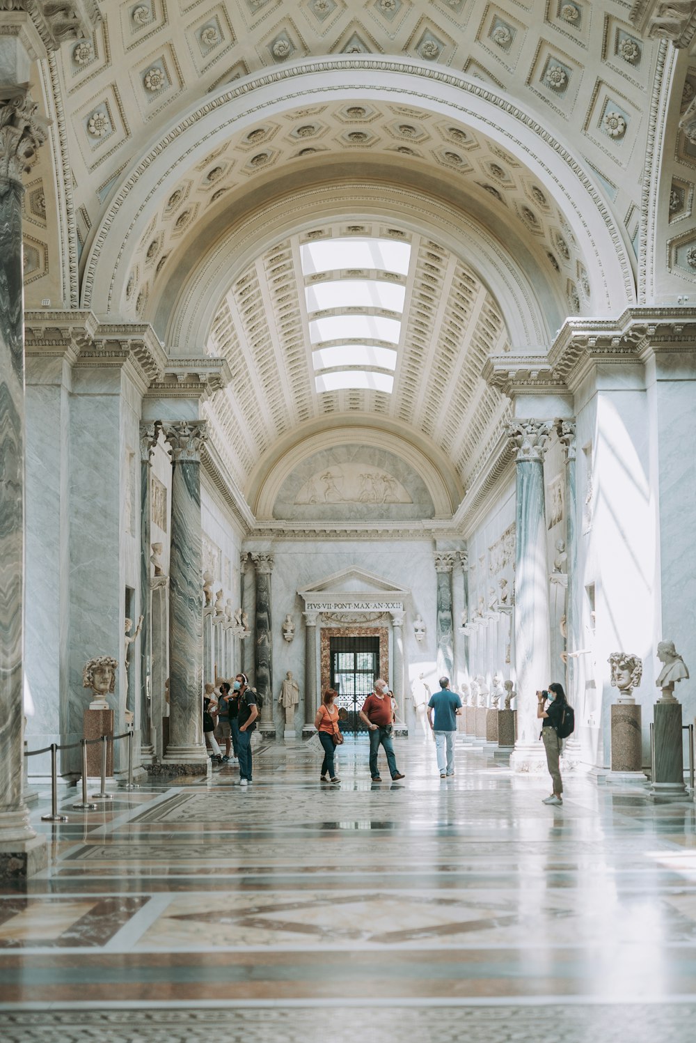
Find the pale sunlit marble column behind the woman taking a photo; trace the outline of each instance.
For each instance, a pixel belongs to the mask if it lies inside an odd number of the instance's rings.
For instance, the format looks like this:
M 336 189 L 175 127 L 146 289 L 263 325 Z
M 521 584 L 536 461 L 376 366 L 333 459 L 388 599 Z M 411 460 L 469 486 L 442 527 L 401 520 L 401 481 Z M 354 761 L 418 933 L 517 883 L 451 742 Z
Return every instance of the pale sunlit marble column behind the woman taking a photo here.
M 544 453 L 551 428 L 548 420 L 529 419 L 513 420 L 507 429 L 517 469 L 517 742 L 511 756 L 511 768 L 516 772 L 539 774 L 546 771 L 546 757 L 539 742 L 536 693 L 545 688 L 550 680 Z

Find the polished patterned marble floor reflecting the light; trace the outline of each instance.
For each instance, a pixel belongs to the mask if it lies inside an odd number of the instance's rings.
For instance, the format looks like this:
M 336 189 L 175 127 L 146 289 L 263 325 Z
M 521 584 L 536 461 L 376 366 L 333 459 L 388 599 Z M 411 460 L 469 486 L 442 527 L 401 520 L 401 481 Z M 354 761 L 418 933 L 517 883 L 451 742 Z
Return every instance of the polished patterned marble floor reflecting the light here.
M 457 746 L 365 739 L 340 786 L 301 744 L 254 784 L 115 789 L 41 823 L 50 868 L 0 892 L 0 1038 L 696 1039 L 696 816 L 640 787 L 512 776 Z

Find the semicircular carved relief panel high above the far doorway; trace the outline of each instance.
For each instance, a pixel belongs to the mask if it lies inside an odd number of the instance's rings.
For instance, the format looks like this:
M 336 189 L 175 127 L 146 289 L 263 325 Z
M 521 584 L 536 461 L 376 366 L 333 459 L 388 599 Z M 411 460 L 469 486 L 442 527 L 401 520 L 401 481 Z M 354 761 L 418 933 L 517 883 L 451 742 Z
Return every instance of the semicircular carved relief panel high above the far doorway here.
M 405 461 L 368 445 L 338 445 L 315 453 L 282 483 L 273 516 L 406 520 L 432 517 L 432 499 Z

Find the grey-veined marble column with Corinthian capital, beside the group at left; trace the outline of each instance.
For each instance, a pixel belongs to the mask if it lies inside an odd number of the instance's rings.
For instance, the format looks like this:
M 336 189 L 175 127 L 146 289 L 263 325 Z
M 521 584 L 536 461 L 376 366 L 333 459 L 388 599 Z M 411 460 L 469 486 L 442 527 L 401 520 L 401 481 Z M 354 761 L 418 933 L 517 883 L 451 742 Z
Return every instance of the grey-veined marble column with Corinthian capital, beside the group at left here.
M 203 616 L 201 611 L 200 451 L 204 420 L 163 426 L 172 450 L 172 531 L 169 575 L 169 746 L 161 769 L 206 774 L 203 739 Z

